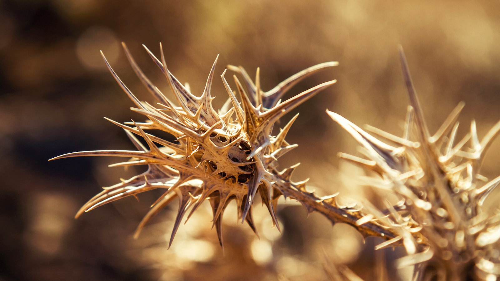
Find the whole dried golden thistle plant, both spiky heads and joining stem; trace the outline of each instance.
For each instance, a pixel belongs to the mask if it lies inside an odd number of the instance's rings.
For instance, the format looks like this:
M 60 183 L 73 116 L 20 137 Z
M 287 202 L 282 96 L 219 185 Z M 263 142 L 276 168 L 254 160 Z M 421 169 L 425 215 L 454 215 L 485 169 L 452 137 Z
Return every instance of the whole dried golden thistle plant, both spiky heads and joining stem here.
M 136 108 L 131 109 L 148 118 L 145 122 L 124 124 L 110 120 L 125 130 L 137 150 L 82 151 L 53 159 L 120 156 L 129 159 L 111 166 L 147 165 L 148 169 L 118 184 L 104 187 L 81 207 L 76 216 L 126 196 L 163 188 L 164 193 L 139 223 L 135 236 L 151 217 L 177 199 L 179 206 L 170 245 L 186 212 L 190 209 L 189 218 L 206 199 L 210 202 L 213 225 L 222 246 L 221 219 L 224 209 L 233 199 L 237 204 L 238 218 L 246 221 L 256 233 L 252 202 L 258 192 L 278 229 L 275 210 L 278 198 L 284 196 L 300 202 L 308 213 L 317 211 L 332 223 L 344 222 L 354 226 L 364 237 L 383 238 L 385 241 L 376 248 L 403 245 L 407 255 L 398 259 L 397 265 L 412 266 L 414 280 L 495 280 L 500 276 L 500 215 L 497 212 L 491 215 L 482 209 L 488 194 L 500 182 L 500 176 L 487 182 L 479 174 L 485 152 L 500 131 L 500 122 L 479 141 L 475 122 L 472 121 L 470 132 L 456 142 L 456 120 L 463 107 L 463 103 L 459 103 L 431 136 L 402 50 L 400 57 L 410 100 L 402 137 L 367 126 L 366 130 L 384 139 L 385 142 L 382 142 L 342 116 L 326 111 L 360 144 L 359 151 L 366 158 L 345 153 L 339 153 L 339 156 L 373 174 L 365 178 L 365 185 L 383 189 L 400 199 L 395 205 L 385 202 L 386 208 L 379 210 L 367 201 L 346 206 L 336 202 L 336 194 L 315 195 L 306 189 L 306 180 L 291 181 L 291 174 L 297 165 L 277 169 L 278 158 L 297 146 L 289 144 L 285 136 L 298 114 L 273 136 L 275 122 L 335 83 L 335 80 L 319 84 L 285 101 L 281 101 L 281 97 L 302 78 L 337 65 L 336 62 L 311 66 L 266 92 L 260 89 L 258 68 L 253 82 L 243 67 L 229 65 L 230 70 L 242 76 L 246 90 L 234 75 L 240 97 L 238 101 L 224 78 L 224 70 L 221 78 L 229 98 L 222 108 L 215 110 L 211 104 L 210 86 L 217 59 L 209 72 L 203 93 L 196 96 L 168 71 L 162 51 L 158 59 L 146 48 L 165 74 L 175 96 L 175 105 L 144 75 L 124 44 L 123 48 L 141 82 L 159 101 L 157 105 L 139 101 L 104 58 L 113 77 L 134 102 Z M 173 135 L 175 141 L 147 133 L 148 129 L 165 131 Z M 142 137 L 147 146 L 135 135 Z M 464 148 L 467 142 L 470 142 L 470 147 Z M 340 272 L 350 278 L 347 275 L 351 273 L 344 274 L 350 272 L 348 268 Z M 340 276 L 336 273 L 332 275 Z

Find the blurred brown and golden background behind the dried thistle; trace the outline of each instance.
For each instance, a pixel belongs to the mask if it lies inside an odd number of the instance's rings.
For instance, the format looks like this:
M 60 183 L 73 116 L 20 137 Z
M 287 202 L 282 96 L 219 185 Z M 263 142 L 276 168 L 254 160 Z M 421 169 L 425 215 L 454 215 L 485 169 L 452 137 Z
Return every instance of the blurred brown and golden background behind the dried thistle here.
M 356 184 L 362 172 L 336 158 L 356 153 L 356 144 L 324 111 L 400 134 L 407 97 L 398 44 L 432 131 L 460 100 L 460 134 L 471 118 L 480 136 L 500 119 L 498 1 L 0 0 L 0 280 L 326 280 L 327 272 L 346 270 L 341 264 L 366 279 L 385 264 L 389 279 L 401 278 L 392 265 L 399 249 L 374 253 L 379 241 L 363 243 L 352 228 L 332 227 L 317 214 L 306 218 L 293 202 L 278 208 L 282 233 L 255 208 L 260 240 L 226 214 L 224 254 L 203 211 L 167 250 L 175 205 L 132 239 L 154 191 L 73 219 L 100 186 L 140 171 L 108 168 L 111 158 L 47 162 L 77 150 L 132 148 L 102 118 L 141 120 L 99 50 L 140 99 L 152 101 L 120 41 L 164 92 L 166 81 L 141 44 L 158 53 L 161 41 L 169 69 L 195 94 L 217 54 L 216 73 L 226 64 L 250 75 L 260 67 L 264 90 L 313 64 L 339 61 L 291 90 L 286 97 L 338 80 L 282 120 L 300 112 L 287 138 L 299 146 L 282 167 L 301 162 L 293 178 L 310 177 L 309 188 L 321 195 L 373 197 Z M 212 92 L 221 105 L 218 79 Z M 498 174 L 499 147 L 489 152 L 485 176 Z

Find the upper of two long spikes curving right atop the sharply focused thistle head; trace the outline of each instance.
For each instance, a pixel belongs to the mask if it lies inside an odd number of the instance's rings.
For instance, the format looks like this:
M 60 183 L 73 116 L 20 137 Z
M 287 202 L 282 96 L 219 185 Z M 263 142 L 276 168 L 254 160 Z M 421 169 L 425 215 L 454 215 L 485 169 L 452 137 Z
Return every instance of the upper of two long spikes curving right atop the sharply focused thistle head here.
M 275 106 L 276 102 L 283 96 L 283 94 L 285 94 L 291 87 L 293 87 L 303 78 L 308 77 L 319 70 L 323 70 L 326 69 L 327 67 L 332 67 L 337 65 L 338 65 L 337 61 L 323 62 L 310 66 L 300 72 L 291 75 L 284 81 L 277 84 L 274 88 L 268 90 L 263 94 L 263 99 L 262 99 L 263 106 L 265 108 L 271 108 Z

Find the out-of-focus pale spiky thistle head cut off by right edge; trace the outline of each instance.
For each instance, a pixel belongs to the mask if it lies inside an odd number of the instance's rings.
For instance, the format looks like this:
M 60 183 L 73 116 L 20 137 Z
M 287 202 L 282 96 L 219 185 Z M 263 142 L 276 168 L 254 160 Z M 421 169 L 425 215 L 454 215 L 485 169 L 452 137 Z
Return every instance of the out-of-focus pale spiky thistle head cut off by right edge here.
M 415 280 L 497 280 L 500 277 L 500 216 L 488 215 L 482 205 L 500 182 L 500 176 L 486 182 L 480 175 L 485 152 L 500 131 L 497 122 L 481 141 L 472 120 L 470 132 L 456 141 L 456 121 L 460 102 L 434 135 L 430 135 L 413 88 L 402 49 L 400 58 L 410 106 L 402 137 L 367 126 L 382 142 L 349 122 L 327 111 L 361 145 L 368 158 L 340 153 L 377 176 L 366 185 L 389 190 L 401 198 L 399 206 L 387 203 L 386 212 L 365 205 L 369 213 L 358 224 L 376 219 L 397 233 L 377 248 L 403 244 L 407 256 L 398 265 L 414 266 Z M 469 142 L 470 146 L 465 148 Z

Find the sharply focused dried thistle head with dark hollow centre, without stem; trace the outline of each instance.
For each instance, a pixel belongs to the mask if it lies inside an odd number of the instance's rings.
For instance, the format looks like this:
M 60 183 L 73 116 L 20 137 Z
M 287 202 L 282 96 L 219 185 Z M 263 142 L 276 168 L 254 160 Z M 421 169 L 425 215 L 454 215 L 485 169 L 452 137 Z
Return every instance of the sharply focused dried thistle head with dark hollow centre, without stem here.
M 162 50 L 158 59 L 145 48 L 165 74 L 175 96 L 177 105 L 174 105 L 144 75 L 125 44 L 123 48 L 137 76 L 159 101 L 157 105 L 139 101 L 102 55 L 113 77 L 135 104 L 136 108 L 131 110 L 148 118 L 145 122 L 132 121 L 124 124 L 110 120 L 125 130 L 137 150 L 82 151 L 63 154 L 53 159 L 72 156 L 120 156 L 130 159 L 111 166 L 147 165 L 148 169 L 142 174 L 122 180 L 113 186 L 104 187 L 104 190 L 81 207 L 76 216 L 126 196 L 163 188 L 165 192 L 152 204 L 149 212 L 139 223 L 135 235 L 138 235 L 153 215 L 176 198 L 179 206 L 169 241 L 171 244 L 187 210 L 191 208 L 187 215 L 189 217 L 206 199 L 211 204 L 213 224 L 216 226 L 222 245 L 221 218 L 224 208 L 233 199 L 237 204 L 238 218 L 242 222 L 246 221 L 256 232 L 252 221 L 251 205 L 258 191 L 273 222 L 277 225 L 275 215 L 277 199 L 281 194 L 287 193 L 282 190 L 283 186 L 291 185 L 300 188 L 304 182 L 290 181 L 290 175 L 295 166 L 281 172 L 276 170 L 277 159 L 296 147 L 296 144 L 289 144 L 284 138 L 297 116 L 294 116 L 276 136 L 271 135 L 272 127 L 281 116 L 320 90 L 335 83 L 335 80 L 319 84 L 282 102 L 280 98 L 302 78 L 337 65 L 337 62 L 325 62 L 309 67 L 267 92 L 260 89 L 258 69 L 255 83 L 253 83 L 242 67 L 230 66 L 243 76 L 248 93 L 234 75 L 241 99 L 241 102 L 238 102 L 224 78 L 224 70 L 221 78 L 229 98 L 223 108 L 215 110 L 211 104 L 213 97 L 210 87 L 217 59 L 212 65 L 203 93 L 196 96 L 168 71 Z M 176 141 L 156 137 L 147 133 L 148 129 L 159 129 L 170 133 Z M 144 146 L 136 135 L 142 137 L 147 146 Z

